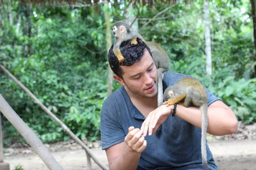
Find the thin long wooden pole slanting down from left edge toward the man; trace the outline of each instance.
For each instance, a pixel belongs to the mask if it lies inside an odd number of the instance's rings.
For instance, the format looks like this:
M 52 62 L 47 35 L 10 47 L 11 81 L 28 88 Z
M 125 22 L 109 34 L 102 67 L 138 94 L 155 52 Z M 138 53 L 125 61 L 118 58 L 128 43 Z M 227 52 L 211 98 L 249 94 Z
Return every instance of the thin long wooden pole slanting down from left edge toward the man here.
M 31 91 L 29 91 L 29 89 L 27 89 L 19 80 L 16 79 L 16 77 L 14 75 L 12 75 L 5 67 L 3 67 L 3 65 L 0 64 L 0 68 L 15 82 L 17 83 L 18 86 L 20 86 L 20 88 L 23 89 L 23 91 L 25 91 L 27 94 L 29 94 L 29 96 L 35 100 L 35 102 L 49 115 L 52 117 L 53 120 L 55 120 L 55 122 L 57 122 L 78 144 L 81 145 L 81 147 L 90 155 L 90 157 L 103 169 L 103 170 L 108 170 L 108 167 L 103 164 L 101 161 L 99 161 L 99 159 L 96 158 L 95 155 L 93 155 L 93 153 L 91 152 L 91 150 L 89 149 L 89 147 L 87 147 L 84 142 L 82 142 L 63 122 L 61 122 L 60 119 L 58 119 L 51 111 L 49 111 L 49 109 L 47 109 L 47 107 L 45 107 L 45 105 L 43 103 L 41 103 L 38 98 L 36 98 L 36 96 L 34 94 L 32 94 Z

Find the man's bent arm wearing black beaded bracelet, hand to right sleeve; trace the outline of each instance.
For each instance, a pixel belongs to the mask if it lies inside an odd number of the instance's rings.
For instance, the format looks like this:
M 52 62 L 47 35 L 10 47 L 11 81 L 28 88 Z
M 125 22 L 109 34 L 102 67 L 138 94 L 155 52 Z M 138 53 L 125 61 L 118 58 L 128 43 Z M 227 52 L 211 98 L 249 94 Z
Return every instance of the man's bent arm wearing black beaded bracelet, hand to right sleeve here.
M 169 110 L 166 111 L 167 108 Z M 141 127 L 143 134 L 146 135 L 147 131 L 148 134 L 153 134 L 160 124 L 167 119 L 167 116 L 172 114 L 172 108 L 173 105 L 161 105 L 159 108 L 149 113 Z M 186 108 L 182 105 L 177 105 L 175 116 L 201 129 L 202 121 L 199 108 Z M 235 114 L 223 102 L 216 101 L 208 106 L 207 133 L 216 136 L 233 134 L 236 132 L 237 126 L 238 121 Z

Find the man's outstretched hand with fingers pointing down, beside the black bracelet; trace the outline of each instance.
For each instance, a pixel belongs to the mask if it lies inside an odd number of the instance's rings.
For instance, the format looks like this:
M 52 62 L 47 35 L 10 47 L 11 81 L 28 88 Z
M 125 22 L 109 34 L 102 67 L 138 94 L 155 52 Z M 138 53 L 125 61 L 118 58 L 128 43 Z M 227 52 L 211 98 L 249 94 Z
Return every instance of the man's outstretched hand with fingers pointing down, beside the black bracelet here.
M 154 134 L 158 127 L 166 121 L 168 116 L 172 113 L 172 108 L 173 105 L 161 105 L 154 111 L 151 111 L 140 128 L 140 131 L 143 132 L 143 136 L 147 136 L 147 133 L 149 136 Z

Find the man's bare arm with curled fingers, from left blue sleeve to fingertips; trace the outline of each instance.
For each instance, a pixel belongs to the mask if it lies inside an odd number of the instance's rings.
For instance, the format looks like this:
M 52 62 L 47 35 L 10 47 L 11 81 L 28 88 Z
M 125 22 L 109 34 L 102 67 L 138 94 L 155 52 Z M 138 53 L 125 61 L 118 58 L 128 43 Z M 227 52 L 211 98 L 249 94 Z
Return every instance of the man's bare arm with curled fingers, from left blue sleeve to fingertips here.
M 125 141 L 106 149 L 110 170 L 136 170 L 147 142 L 138 128 L 129 127 Z

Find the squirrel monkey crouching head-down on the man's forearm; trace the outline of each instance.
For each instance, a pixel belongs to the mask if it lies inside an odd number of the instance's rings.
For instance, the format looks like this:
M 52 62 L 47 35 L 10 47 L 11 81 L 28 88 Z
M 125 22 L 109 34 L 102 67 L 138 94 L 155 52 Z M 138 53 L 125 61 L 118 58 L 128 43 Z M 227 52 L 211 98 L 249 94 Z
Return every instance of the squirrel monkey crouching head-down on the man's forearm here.
M 198 107 L 200 109 L 202 119 L 201 153 L 203 170 L 209 170 L 207 164 L 206 150 L 208 105 L 207 93 L 204 87 L 196 79 L 184 78 L 176 82 L 173 86 L 169 86 L 168 88 L 166 88 L 163 94 L 163 98 L 166 101 L 163 103 L 164 105 L 174 105 L 175 103 L 179 103 L 180 105 L 183 105 L 186 108 L 188 108 L 191 105 L 194 107 Z M 159 131 L 158 134 L 156 133 L 156 135 L 158 135 L 158 138 L 161 136 L 161 132 L 162 131 Z

